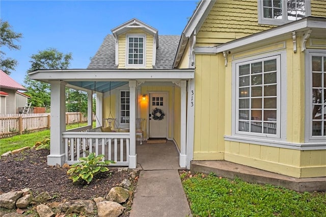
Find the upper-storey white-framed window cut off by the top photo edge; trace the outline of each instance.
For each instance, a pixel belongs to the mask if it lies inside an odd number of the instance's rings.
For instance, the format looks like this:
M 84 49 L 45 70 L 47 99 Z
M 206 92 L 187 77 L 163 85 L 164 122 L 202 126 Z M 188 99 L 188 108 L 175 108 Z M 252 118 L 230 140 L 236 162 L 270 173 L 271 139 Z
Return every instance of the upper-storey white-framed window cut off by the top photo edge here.
M 258 0 L 260 24 L 281 25 L 309 15 L 309 0 Z

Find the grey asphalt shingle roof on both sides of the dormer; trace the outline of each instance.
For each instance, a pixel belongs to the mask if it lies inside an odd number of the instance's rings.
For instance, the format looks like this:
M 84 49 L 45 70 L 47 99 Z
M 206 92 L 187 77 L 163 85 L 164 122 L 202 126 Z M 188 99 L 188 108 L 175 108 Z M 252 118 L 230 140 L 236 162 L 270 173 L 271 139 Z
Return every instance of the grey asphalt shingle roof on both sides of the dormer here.
M 178 49 L 180 36 L 158 36 L 156 50 L 156 64 L 154 69 L 172 69 L 174 58 Z M 116 69 L 115 66 L 115 38 L 107 35 L 103 43 L 92 58 L 88 69 Z

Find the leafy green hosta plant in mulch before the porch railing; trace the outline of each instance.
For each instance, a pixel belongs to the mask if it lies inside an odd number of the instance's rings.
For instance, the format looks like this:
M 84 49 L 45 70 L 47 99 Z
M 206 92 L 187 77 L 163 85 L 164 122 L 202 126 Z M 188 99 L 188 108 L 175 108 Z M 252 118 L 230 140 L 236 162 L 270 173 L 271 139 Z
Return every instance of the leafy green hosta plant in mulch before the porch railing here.
M 87 157 L 80 157 L 79 162 L 73 164 L 67 171 L 69 179 L 73 182 L 83 179 L 89 184 L 97 173 L 108 171 L 107 165 L 115 164 L 113 160 L 103 160 L 103 154 L 95 156 L 95 153 L 90 153 Z

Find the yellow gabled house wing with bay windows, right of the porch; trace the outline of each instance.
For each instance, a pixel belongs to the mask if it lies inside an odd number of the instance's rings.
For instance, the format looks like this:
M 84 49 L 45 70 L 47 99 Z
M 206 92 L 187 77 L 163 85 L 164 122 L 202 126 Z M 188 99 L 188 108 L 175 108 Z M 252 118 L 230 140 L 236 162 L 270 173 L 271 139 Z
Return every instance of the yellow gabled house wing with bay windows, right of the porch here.
M 326 2 L 278 3 L 202 1 L 184 29 L 174 67 L 195 68 L 192 159 L 324 177 Z

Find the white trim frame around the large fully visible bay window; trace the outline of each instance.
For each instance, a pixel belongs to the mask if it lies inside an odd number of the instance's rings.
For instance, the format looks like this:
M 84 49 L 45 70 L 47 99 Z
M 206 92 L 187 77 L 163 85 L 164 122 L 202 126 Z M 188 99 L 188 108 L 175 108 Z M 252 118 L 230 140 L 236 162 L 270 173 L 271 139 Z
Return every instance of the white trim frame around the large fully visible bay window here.
M 238 131 L 238 119 L 237 119 L 237 97 L 238 97 L 238 89 L 237 89 L 237 65 L 239 63 L 246 62 L 254 62 L 255 60 L 260 59 L 273 59 L 274 57 L 279 56 L 280 64 L 280 73 L 277 75 L 277 84 L 278 84 L 278 113 L 277 113 L 277 134 L 266 134 L 266 133 L 253 133 L 253 132 L 242 132 Z M 282 73 L 283 72 L 283 73 Z M 248 141 L 260 141 L 259 144 L 279 144 L 281 141 L 284 141 L 285 144 L 287 142 L 286 139 L 286 51 L 279 51 L 274 53 L 266 53 L 264 55 L 257 55 L 255 57 L 249 57 L 246 59 L 241 59 L 234 61 L 232 63 L 232 130 L 231 135 L 225 136 L 225 140 L 228 141 L 237 141 L 248 143 Z M 282 94 L 283 93 L 283 94 Z

